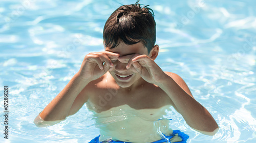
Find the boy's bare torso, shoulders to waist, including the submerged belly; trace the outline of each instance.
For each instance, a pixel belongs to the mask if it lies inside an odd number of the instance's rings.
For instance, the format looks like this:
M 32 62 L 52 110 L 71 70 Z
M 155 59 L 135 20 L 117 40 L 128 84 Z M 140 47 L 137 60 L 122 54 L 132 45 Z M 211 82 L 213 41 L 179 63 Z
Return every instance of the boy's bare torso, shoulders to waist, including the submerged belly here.
M 157 85 L 140 80 L 142 84 L 137 87 L 121 89 L 107 72 L 84 90 L 89 96 L 88 108 L 95 111 L 101 140 L 112 137 L 129 142 L 145 142 L 145 139 L 153 142 L 161 139 L 158 126 L 162 132 L 172 133 L 169 121 L 158 121 L 172 100 Z

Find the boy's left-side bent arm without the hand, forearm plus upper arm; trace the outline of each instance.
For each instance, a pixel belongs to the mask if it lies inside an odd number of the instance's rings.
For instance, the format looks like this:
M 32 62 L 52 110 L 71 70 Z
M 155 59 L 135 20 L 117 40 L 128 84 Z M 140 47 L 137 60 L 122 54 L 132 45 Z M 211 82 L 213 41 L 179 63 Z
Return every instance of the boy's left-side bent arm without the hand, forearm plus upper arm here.
M 35 124 L 56 124 L 77 112 L 87 100 L 87 96 L 81 91 L 88 83 L 78 73 L 75 74 L 66 87 L 39 113 Z

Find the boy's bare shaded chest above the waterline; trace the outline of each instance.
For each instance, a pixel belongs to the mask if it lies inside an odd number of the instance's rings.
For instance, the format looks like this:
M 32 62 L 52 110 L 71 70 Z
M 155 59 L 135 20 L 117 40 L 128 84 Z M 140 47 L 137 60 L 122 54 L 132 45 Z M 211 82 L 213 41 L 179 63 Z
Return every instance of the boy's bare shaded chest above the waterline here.
M 157 87 L 142 87 L 125 92 L 114 88 L 97 88 L 94 91 L 89 100 L 96 112 L 125 104 L 134 109 L 147 109 L 160 108 L 170 103 L 169 97 Z

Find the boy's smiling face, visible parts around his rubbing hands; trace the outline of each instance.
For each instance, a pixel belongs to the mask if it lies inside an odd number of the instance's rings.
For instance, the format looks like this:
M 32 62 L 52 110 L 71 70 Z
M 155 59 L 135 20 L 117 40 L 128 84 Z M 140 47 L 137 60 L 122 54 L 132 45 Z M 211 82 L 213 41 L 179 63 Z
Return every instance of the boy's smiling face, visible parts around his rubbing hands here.
M 131 59 L 136 53 L 148 55 L 147 48 L 145 48 L 141 42 L 134 45 L 126 45 L 125 43 L 120 42 L 117 47 L 112 49 L 105 47 L 105 50 L 119 53 L 120 56 L 125 56 L 127 60 Z M 126 69 L 127 62 L 120 62 L 118 60 L 112 61 L 114 67 L 109 69 L 109 72 L 116 80 L 116 83 L 122 88 L 131 87 L 131 85 L 141 78 L 140 74 L 133 66 Z

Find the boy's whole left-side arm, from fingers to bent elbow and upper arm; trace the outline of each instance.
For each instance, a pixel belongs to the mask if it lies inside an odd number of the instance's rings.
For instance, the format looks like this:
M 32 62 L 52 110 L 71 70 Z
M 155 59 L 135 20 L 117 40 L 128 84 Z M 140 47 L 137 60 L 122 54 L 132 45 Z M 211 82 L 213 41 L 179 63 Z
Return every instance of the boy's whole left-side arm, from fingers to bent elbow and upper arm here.
M 45 109 L 39 113 L 34 123 L 36 125 L 53 125 L 77 112 L 88 99 L 86 91 L 82 91 L 84 87 L 113 67 L 111 60 L 117 60 L 119 56 L 117 53 L 108 51 L 87 54 L 83 59 L 79 72 L 74 75 L 66 87 Z

